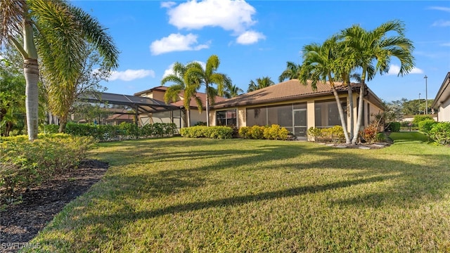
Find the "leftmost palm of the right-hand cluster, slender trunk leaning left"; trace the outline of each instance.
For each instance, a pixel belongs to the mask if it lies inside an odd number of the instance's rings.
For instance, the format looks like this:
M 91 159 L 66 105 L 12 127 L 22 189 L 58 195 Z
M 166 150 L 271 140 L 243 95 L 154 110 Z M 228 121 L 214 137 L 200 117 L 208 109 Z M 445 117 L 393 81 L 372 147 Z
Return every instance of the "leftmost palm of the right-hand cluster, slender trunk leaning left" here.
M 338 69 L 340 59 L 338 56 L 338 38 L 331 37 L 323 44 L 309 44 L 303 47 L 303 64 L 300 71 L 300 83 L 310 85 L 313 89 L 317 89 L 317 82 L 327 82 L 330 84 L 333 95 L 338 105 L 340 122 L 344 129 L 345 142 L 350 143 L 347 132 L 347 119 L 344 116 L 344 110 L 340 103 L 338 91 L 335 88 L 335 72 Z

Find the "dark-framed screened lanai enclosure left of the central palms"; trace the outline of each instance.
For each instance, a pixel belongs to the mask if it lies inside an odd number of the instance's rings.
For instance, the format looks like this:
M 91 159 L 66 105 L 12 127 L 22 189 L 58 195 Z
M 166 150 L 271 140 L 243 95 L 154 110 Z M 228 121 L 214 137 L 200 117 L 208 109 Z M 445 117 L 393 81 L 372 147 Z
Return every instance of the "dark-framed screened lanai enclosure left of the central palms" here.
M 133 115 L 138 126 L 154 123 L 174 123 L 179 130 L 184 126 L 184 112 L 181 108 L 153 98 L 130 96 L 115 93 L 89 93 L 79 97 L 86 103 L 103 103 L 109 105 L 124 105 L 129 110 L 120 112 L 121 115 Z M 117 112 L 115 112 L 117 114 Z

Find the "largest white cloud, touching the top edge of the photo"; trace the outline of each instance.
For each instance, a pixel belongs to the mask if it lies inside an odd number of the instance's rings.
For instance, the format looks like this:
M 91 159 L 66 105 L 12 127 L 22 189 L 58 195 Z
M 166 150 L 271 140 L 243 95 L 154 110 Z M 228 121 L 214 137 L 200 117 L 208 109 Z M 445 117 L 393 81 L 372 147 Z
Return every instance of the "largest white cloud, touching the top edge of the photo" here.
M 178 29 L 221 27 L 240 34 L 255 24 L 255 8 L 245 1 L 204 0 L 187 1 L 169 8 L 169 23 Z

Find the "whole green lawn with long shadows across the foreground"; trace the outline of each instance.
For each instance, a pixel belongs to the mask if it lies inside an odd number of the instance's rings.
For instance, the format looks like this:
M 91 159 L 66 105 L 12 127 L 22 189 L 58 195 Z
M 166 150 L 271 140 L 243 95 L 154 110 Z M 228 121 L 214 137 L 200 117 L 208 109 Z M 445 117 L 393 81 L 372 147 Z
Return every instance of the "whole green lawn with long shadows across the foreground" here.
M 167 138 L 102 143 L 110 169 L 34 238 L 47 252 L 449 252 L 450 149 Z

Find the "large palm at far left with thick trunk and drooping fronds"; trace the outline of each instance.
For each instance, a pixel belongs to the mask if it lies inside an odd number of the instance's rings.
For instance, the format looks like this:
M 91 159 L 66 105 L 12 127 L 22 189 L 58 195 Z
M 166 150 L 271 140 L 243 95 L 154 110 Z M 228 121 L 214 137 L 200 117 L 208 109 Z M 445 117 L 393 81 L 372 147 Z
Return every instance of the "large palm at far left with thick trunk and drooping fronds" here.
M 97 20 L 62 0 L 0 1 L 2 44 L 13 44 L 23 56 L 28 138 L 38 131 L 39 64 L 51 71 L 51 84 L 72 89 L 81 68 L 85 41 L 93 44 L 110 67 L 117 67 L 118 51 Z

